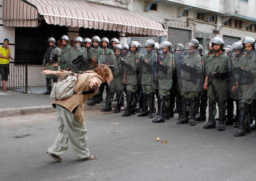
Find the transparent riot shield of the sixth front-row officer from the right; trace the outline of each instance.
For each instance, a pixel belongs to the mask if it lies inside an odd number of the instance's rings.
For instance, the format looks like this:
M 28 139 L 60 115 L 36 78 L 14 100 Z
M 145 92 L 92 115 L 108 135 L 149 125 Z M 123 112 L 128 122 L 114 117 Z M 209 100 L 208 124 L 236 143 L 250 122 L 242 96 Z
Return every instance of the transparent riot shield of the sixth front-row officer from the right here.
M 132 50 L 129 50 L 129 52 L 127 60 L 119 59 L 121 72 L 123 73 L 123 84 L 137 85 L 139 78 L 138 53 Z

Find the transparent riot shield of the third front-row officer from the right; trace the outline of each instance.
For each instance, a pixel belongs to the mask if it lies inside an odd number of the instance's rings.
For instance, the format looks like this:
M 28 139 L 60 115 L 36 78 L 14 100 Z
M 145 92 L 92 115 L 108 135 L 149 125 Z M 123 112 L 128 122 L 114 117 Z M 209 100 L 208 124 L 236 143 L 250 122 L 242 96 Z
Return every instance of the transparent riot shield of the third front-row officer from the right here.
M 174 53 L 178 83 L 181 92 L 204 90 L 204 73 L 198 49 L 177 50 Z

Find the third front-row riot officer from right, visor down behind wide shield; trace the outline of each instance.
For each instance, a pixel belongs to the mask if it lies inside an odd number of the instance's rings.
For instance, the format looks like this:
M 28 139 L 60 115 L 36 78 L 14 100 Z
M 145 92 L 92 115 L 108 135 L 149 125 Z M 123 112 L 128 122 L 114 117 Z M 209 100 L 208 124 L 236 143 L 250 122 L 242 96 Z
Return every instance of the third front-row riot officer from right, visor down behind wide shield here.
M 191 39 L 188 41 L 185 47 L 186 53 L 188 53 L 184 59 L 179 62 L 180 75 L 180 91 L 181 91 L 181 112 L 182 118 L 177 122 L 177 124 L 187 124 L 190 126 L 195 126 L 195 115 L 196 115 L 196 104 L 198 98 L 198 91 L 203 88 L 203 67 L 200 51 L 198 51 L 199 42 L 196 39 Z M 198 53 L 199 52 L 199 53 Z M 175 57 L 175 62 L 178 65 L 177 58 Z M 182 66 L 183 65 L 183 66 Z M 178 76 L 179 76 L 178 75 Z M 201 89 L 202 90 L 202 89 Z M 186 114 L 187 101 L 190 102 L 190 118 L 188 119 L 188 114 Z

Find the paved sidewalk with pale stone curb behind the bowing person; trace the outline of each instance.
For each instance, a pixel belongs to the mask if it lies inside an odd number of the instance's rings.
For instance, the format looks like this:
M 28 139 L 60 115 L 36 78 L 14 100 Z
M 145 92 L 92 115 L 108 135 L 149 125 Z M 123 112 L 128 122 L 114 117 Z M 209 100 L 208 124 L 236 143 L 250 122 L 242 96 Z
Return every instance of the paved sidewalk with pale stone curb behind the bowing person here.
M 16 91 L 7 90 L 0 91 L 0 119 L 4 116 L 13 116 L 21 114 L 30 114 L 37 112 L 55 112 L 52 107 L 52 98 L 50 95 L 43 95 L 46 91 L 45 86 L 29 87 L 32 94 L 23 94 Z M 84 105 L 84 110 L 102 109 L 105 104 L 106 91 L 103 92 L 103 100 L 100 104 Z M 116 102 L 113 101 L 112 107 L 116 107 Z

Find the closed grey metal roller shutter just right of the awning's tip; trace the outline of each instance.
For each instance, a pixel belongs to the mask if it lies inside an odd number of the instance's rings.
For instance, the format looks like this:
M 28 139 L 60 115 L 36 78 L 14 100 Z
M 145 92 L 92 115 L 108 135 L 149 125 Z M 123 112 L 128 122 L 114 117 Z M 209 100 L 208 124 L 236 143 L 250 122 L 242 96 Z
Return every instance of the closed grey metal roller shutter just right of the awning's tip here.
M 168 28 L 168 41 L 172 43 L 172 47 L 174 47 L 177 43 L 181 43 L 185 47 L 189 40 L 190 30 L 171 27 Z

